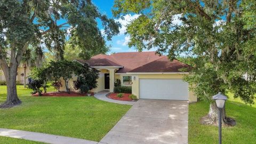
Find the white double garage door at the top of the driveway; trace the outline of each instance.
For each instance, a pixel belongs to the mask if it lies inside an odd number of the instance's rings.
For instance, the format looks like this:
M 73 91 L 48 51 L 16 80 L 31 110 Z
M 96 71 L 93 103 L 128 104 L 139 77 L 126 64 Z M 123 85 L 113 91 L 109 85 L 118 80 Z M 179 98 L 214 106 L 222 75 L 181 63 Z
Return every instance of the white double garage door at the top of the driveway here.
M 182 79 L 140 79 L 140 99 L 188 100 L 188 83 Z

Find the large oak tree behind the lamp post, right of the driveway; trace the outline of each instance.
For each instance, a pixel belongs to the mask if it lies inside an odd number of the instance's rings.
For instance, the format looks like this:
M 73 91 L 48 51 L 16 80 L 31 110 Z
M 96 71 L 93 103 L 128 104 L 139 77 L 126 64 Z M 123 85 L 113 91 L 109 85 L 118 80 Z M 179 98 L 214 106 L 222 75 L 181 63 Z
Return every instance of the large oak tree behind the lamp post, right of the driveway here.
M 115 17 L 139 14 L 127 26 L 129 46 L 157 47 L 169 58 L 191 57 L 194 69 L 185 80 L 201 100 L 210 103 L 207 124 L 217 122 L 212 96 L 234 93 L 253 103 L 256 80 L 255 2 L 250 0 L 116 0 Z M 222 122 L 234 125 L 222 110 Z

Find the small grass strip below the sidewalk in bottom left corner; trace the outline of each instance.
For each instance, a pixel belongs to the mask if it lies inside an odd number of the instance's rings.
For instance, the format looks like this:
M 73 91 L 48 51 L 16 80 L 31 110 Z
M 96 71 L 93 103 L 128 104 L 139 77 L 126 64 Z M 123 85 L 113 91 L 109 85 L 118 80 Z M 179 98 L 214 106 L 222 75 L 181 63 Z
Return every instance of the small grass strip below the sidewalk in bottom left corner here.
M 35 142 L 35 141 L 29 141 L 29 140 L 23 140 L 23 139 L 9 138 L 9 137 L 0 137 L 0 143 L 5 143 L 5 144 L 20 144 L 20 143 L 43 144 L 43 142 Z

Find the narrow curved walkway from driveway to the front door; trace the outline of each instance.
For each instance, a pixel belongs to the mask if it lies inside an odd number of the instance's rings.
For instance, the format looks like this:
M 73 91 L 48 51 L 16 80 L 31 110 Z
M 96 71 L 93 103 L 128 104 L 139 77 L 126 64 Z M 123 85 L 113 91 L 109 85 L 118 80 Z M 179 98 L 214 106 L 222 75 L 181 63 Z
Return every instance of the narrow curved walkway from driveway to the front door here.
M 109 99 L 106 97 L 106 95 L 108 94 L 108 92 L 99 92 L 99 93 L 96 93 L 94 94 L 94 97 L 99 99 L 99 100 L 102 100 L 102 101 L 107 101 L 107 102 L 113 102 L 113 103 L 119 103 L 119 104 L 122 104 L 122 105 L 134 105 L 134 101 L 121 101 L 121 100 L 113 100 L 113 99 Z

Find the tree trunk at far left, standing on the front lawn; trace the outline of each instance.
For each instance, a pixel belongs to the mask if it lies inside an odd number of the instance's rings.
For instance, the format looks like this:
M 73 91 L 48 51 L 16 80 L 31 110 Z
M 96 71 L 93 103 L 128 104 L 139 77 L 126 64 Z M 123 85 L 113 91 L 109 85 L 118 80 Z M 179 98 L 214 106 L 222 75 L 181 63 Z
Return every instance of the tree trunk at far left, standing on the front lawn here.
M 8 108 L 21 103 L 17 95 L 16 77 L 17 77 L 18 63 L 12 63 L 11 67 L 3 67 L 6 85 L 7 85 L 7 99 L 0 108 Z

